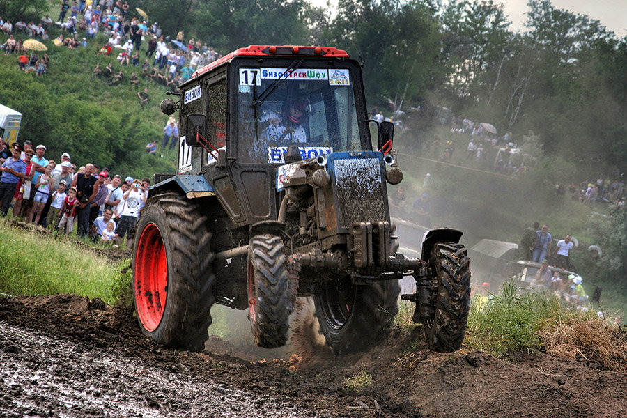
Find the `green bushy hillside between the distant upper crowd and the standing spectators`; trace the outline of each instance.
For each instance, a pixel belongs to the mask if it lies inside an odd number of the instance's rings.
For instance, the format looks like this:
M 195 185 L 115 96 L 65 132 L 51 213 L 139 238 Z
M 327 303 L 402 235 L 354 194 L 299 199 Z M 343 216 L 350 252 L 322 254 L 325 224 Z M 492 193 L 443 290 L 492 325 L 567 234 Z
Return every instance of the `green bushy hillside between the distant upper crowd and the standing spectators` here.
M 52 29 L 51 39 L 59 33 Z M 0 35 L 0 42 L 4 40 L 6 36 Z M 17 54 L 0 54 L 0 103 L 22 112 L 20 141 L 42 142 L 52 158 L 68 151 L 78 165 L 95 162 L 125 176 L 173 173 L 176 153 L 166 151 L 155 160 L 145 152 L 149 141 L 160 142 L 167 116 L 160 112 L 159 103 L 167 97 L 167 88 L 141 78 L 137 90 L 130 86 L 128 77 L 132 71 L 139 75 L 139 66 L 118 65 L 116 49 L 114 56 L 98 55 L 104 42 L 102 33 L 88 40 L 86 48 L 68 49 L 54 46 L 52 40 L 45 42 L 50 68 L 43 77 L 18 72 Z M 143 42 L 141 61 L 145 50 Z M 124 72 L 125 79 L 118 86 L 93 77 L 97 63 L 104 68 L 110 62 Z M 144 88 L 148 88 L 150 106 L 141 108 L 137 91 Z

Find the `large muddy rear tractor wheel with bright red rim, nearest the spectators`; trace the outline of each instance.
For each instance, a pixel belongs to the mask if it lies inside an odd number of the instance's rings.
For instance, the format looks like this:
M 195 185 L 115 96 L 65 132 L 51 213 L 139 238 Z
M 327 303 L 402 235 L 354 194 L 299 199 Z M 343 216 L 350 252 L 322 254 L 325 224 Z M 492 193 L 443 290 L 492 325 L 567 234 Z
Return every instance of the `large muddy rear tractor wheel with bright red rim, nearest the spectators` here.
M 207 218 L 176 193 L 148 199 L 136 225 L 133 298 L 139 328 L 164 346 L 200 352 L 208 339 L 213 254 Z

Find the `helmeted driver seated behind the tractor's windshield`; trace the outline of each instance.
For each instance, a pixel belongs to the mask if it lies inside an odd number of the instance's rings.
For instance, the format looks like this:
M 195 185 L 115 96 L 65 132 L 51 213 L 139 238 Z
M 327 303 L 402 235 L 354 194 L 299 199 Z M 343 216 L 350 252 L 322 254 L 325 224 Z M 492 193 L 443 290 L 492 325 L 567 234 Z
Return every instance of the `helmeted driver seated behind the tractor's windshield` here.
M 307 142 L 302 123 L 307 120 L 309 114 L 306 100 L 289 100 L 284 103 L 281 118 L 276 112 L 264 115 L 268 127 L 263 130 L 263 138 L 274 142 Z

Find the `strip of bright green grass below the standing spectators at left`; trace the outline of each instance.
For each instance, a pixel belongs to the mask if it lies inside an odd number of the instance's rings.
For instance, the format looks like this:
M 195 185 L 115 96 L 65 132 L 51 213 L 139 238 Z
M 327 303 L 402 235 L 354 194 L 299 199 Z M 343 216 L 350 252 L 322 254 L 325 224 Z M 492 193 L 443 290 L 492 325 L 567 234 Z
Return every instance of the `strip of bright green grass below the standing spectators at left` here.
M 8 295 L 73 293 L 115 304 L 127 292 L 121 266 L 105 263 L 95 251 L 37 229 L 16 229 L 0 220 L 0 292 Z M 128 264 L 128 263 L 126 263 Z

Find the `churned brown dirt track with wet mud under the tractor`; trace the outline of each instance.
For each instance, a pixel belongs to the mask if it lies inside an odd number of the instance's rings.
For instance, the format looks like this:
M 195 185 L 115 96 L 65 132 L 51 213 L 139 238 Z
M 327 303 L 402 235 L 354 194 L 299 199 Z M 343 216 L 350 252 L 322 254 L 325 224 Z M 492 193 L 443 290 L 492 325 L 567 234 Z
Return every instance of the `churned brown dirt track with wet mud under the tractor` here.
M 126 311 L 74 295 L 0 300 L 3 417 L 624 417 L 627 376 L 543 353 L 431 353 L 392 330 L 363 355 L 248 362 L 155 346 Z M 242 353 L 241 357 L 246 357 Z M 346 378 L 366 372 L 359 392 Z

